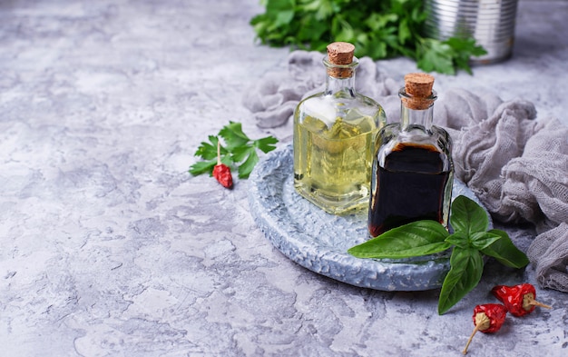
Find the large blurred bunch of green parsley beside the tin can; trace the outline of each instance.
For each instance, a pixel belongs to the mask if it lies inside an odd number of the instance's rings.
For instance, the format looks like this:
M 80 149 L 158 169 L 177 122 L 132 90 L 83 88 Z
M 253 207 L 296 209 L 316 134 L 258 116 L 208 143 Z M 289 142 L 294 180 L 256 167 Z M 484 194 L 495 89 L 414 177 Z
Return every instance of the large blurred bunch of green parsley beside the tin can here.
M 473 38 L 427 38 L 422 0 L 263 0 L 266 11 L 250 21 L 264 45 L 324 52 L 345 41 L 357 56 L 406 56 L 426 72 L 472 74 L 470 56 L 485 55 Z

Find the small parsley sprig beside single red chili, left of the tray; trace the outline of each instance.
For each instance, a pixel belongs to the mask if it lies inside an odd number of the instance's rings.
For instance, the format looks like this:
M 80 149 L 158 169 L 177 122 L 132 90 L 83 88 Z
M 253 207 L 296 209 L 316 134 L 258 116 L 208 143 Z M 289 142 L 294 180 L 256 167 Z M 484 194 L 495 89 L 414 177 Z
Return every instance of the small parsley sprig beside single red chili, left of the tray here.
M 209 135 L 208 138 L 209 143 L 201 142 L 195 152 L 195 156 L 202 161 L 190 166 L 190 174 L 194 176 L 211 175 L 217 164 L 217 144 L 220 138 L 225 143 L 224 146 L 220 145 L 220 161 L 227 166 L 238 166 L 240 179 L 249 178 L 252 169 L 259 162 L 257 149 L 266 154 L 276 149 L 278 143 L 278 139 L 273 136 L 252 140 L 242 132 L 242 125 L 235 122 L 229 122 L 220 129 L 219 134 Z

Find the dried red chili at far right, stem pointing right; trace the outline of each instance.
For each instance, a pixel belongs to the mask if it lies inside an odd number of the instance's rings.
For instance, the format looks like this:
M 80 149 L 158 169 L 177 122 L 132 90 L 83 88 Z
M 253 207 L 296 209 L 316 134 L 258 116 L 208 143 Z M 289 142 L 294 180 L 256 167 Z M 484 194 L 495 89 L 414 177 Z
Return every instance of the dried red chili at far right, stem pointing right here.
M 504 303 L 504 307 L 512 315 L 520 317 L 533 312 L 536 306 L 552 309 L 552 306 L 534 300 L 536 290 L 530 283 L 522 283 L 514 286 L 496 285 L 491 289 L 491 293 Z

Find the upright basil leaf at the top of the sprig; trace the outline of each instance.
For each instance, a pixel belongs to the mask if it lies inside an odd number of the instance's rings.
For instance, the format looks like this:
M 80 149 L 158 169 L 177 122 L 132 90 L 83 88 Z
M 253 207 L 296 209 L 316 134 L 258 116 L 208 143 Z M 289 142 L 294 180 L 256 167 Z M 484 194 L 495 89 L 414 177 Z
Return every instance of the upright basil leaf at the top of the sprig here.
M 489 218 L 485 210 L 474 200 L 459 195 L 452 203 L 450 224 L 455 232 L 471 235 L 475 232 L 485 232 L 489 226 Z

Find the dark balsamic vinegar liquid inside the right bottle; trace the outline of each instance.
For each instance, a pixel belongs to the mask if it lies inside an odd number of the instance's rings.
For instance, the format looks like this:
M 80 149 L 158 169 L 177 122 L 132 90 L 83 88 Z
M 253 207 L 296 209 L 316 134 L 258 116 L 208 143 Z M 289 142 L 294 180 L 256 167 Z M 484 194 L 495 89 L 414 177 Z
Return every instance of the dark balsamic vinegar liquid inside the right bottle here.
M 397 144 L 373 174 L 377 191 L 372 195 L 368 216 L 373 237 L 417 220 L 444 223 L 450 172 L 444 171 L 444 158 L 436 147 Z

